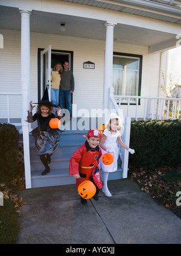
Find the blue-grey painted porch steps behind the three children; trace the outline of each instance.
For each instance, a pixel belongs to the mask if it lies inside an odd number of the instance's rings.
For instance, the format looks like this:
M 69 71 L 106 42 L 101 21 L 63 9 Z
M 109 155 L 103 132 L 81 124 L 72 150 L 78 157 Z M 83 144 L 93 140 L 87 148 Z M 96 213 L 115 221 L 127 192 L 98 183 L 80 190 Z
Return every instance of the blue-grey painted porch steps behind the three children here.
M 42 176 L 42 171 L 45 168 L 36 151 L 34 137 L 30 134 L 32 188 L 75 184 L 74 177 L 69 175 L 69 160 L 75 150 L 86 141 L 83 135 L 87 135 L 87 130 L 65 130 L 65 132 L 60 133 L 59 148 L 51 156 L 50 172 Z M 103 179 L 102 171 L 101 177 Z M 109 175 L 109 180 L 116 179 L 122 179 L 120 159 L 118 160 L 118 170 Z

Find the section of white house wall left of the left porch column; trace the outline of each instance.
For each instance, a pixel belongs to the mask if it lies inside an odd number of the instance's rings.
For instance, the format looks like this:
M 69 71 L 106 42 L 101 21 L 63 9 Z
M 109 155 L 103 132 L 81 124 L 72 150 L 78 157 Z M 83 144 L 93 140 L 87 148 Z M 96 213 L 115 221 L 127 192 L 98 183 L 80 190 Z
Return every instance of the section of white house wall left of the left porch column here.
M 21 94 L 21 33 L 0 30 L 4 48 L 0 49 L 0 92 Z M 13 101 L 12 101 L 13 99 Z M 10 117 L 21 117 L 21 96 L 10 96 Z M 0 118 L 7 117 L 7 97 L 0 96 Z

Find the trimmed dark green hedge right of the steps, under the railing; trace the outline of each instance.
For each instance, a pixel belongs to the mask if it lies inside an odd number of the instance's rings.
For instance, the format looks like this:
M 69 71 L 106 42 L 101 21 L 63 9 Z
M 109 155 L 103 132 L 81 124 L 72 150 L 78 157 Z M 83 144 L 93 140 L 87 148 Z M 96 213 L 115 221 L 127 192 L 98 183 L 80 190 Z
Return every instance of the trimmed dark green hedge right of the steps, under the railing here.
M 181 159 L 180 120 L 133 121 L 129 163 L 136 168 L 179 166 Z

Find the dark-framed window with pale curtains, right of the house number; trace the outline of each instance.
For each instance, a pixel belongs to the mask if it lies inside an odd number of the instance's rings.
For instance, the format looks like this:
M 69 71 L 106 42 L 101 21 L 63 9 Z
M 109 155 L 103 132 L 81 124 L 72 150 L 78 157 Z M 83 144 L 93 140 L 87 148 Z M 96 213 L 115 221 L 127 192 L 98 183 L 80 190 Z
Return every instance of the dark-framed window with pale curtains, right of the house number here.
M 113 53 L 113 88 L 115 95 L 141 95 L 142 56 L 136 54 Z M 127 103 L 122 99 L 121 103 Z M 130 103 L 135 103 L 131 99 Z

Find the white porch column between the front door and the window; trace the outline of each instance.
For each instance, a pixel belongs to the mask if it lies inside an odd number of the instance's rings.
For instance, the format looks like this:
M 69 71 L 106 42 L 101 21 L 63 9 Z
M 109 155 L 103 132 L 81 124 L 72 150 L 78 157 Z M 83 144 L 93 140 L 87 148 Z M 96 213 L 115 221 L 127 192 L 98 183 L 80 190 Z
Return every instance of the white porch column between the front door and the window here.
M 103 109 L 109 109 L 109 88 L 112 87 L 112 66 L 113 66 L 113 29 L 115 23 L 106 22 L 106 50 L 104 64 L 104 98 Z

